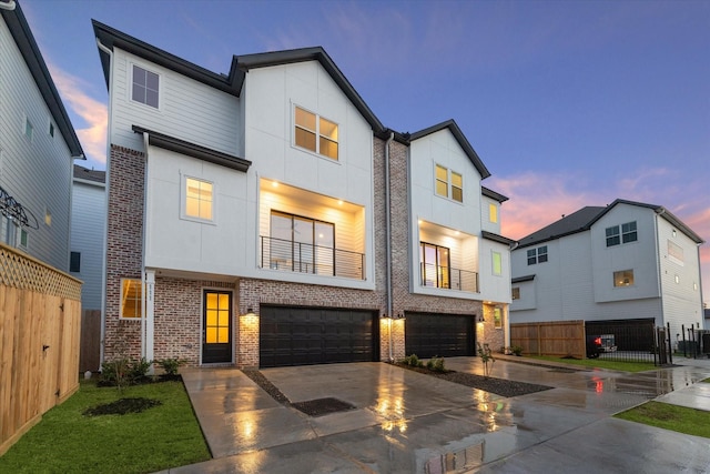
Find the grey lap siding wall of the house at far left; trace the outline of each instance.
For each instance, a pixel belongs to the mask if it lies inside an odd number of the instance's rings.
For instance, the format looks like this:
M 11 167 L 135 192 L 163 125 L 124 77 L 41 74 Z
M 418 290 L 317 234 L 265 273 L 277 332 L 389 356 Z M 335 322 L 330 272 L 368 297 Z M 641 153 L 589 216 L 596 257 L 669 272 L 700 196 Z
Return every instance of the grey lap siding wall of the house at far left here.
M 26 121 L 32 138 L 26 137 Z M 54 135 L 50 135 L 50 123 Z M 69 271 L 71 152 L 10 31 L 0 18 L 0 186 L 37 218 L 30 255 Z M 47 213 L 51 224 L 45 223 Z

